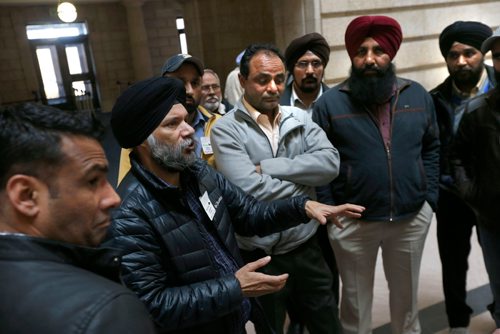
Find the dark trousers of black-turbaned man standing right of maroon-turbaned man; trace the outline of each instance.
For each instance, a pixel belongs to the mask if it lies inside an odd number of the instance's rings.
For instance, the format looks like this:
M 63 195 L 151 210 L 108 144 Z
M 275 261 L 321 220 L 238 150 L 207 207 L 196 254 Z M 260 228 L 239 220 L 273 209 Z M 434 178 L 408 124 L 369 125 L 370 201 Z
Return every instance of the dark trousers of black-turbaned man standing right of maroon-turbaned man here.
M 440 189 L 436 219 L 448 323 L 450 327 L 467 327 L 472 313 L 466 303 L 467 258 L 476 217 L 462 199 Z

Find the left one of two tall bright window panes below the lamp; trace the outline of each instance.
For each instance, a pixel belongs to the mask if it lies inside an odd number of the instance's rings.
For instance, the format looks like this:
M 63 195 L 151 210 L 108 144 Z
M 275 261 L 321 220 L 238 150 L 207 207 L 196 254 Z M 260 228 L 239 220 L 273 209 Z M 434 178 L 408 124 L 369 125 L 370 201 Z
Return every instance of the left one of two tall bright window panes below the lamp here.
M 37 47 L 36 56 L 42 75 L 45 97 L 57 99 L 64 97 L 64 87 L 59 72 L 59 62 L 54 46 Z

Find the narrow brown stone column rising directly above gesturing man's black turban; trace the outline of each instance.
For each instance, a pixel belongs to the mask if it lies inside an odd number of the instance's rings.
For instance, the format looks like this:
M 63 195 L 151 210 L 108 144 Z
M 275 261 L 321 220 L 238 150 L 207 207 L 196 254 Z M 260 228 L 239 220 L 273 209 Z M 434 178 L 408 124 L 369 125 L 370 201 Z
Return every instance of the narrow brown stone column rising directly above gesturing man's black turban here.
M 142 80 L 153 75 L 148 36 L 144 26 L 142 5 L 144 0 L 122 0 L 127 10 L 130 53 L 134 69 L 134 79 Z

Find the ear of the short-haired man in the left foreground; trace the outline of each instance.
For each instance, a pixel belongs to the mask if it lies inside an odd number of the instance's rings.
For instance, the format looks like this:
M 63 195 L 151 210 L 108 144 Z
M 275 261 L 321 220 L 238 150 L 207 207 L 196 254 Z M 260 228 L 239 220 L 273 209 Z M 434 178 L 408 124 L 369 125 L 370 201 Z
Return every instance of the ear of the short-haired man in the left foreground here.
M 13 175 L 7 181 L 5 192 L 15 211 L 35 217 L 40 211 L 43 183 L 37 178 L 24 174 Z

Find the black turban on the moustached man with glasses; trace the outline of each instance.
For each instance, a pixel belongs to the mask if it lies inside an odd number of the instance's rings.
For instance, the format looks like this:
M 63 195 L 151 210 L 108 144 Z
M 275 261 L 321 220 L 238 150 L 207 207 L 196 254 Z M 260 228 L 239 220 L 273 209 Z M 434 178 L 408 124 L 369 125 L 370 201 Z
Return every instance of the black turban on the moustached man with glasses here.
M 286 68 L 288 72 L 293 73 L 293 68 L 297 59 L 302 57 L 306 51 L 311 51 L 320 57 L 323 65 L 328 64 L 330 59 L 330 46 L 323 36 L 317 32 L 306 34 L 290 42 L 285 50 Z

